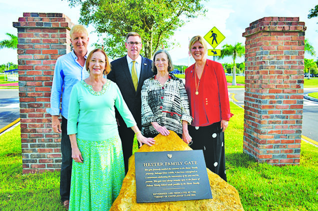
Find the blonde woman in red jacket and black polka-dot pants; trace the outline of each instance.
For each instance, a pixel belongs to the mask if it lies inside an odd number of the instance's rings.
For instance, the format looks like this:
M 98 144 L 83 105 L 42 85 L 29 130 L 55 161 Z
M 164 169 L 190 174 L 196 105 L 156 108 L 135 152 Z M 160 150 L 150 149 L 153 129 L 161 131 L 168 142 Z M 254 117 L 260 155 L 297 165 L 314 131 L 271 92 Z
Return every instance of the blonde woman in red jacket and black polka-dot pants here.
M 189 51 L 195 60 L 185 70 L 185 88 L 193 117 L 189 134 L 191 148 L 203 150 L 206 167 L 226 181 L 224 131 L 230 112 L 227 82 L 220 63 L 206 58 L 206 42 L 192 37 Z

